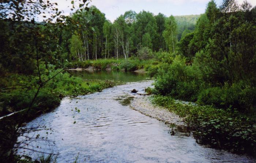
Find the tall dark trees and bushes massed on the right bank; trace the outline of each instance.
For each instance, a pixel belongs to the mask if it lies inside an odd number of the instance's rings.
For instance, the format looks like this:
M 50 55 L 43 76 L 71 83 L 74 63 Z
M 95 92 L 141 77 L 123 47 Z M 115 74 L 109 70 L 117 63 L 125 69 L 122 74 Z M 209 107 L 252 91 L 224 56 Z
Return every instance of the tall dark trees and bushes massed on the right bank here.
M 217 7 L 212 0 L 176 46 L 168 64 L 151 68 L 159 94 L 256 112 L 256 7 L 235 0 Z

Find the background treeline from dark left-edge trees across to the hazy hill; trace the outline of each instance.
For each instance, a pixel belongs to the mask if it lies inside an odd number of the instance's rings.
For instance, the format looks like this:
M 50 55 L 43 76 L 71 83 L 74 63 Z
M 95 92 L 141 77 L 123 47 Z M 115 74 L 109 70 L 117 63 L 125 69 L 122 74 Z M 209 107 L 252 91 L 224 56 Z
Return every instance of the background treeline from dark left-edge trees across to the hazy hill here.
M 39 58 L 60 67 L 66 62 L 135 57 L 142 47 L 155 52 L 174 51 L 176 43 L 195 29 L 198 17 L 167 18 L 161 13 L 137 14 L 131 10 L 111 23 L 91 6 L 77 10 L 65 22 L 0 20 L 0 69 L 33 72 L 36 51 L 43 54 Z

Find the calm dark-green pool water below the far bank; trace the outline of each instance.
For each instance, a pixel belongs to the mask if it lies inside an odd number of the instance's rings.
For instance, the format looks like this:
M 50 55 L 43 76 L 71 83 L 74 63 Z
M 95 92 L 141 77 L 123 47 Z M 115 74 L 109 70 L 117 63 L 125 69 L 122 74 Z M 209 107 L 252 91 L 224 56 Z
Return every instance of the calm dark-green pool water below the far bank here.
M 109 80 L 119 80 L 122 82 L 138 82 L 141 80 L 146 80 L 147 75 L 136 73 L 136 72 L 123 72 L 123 71 L 70 71 L 74 76 L 82 77 L 83 79 L 109 79 Z

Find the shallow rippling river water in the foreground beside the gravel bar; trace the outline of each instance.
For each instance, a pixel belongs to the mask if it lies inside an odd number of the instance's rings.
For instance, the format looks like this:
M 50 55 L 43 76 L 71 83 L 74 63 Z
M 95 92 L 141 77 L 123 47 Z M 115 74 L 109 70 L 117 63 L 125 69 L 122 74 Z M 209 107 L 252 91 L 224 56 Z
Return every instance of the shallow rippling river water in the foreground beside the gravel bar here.
M 206 163 L 256 162 L 246 155 L 208 148 L 196 143 L 192 136 L 176 133 L 163 122 L 129 108 L 129 101 L 138 98 L 133 88 L 143 92 L 152 80 L 127 83 L 77 98 L 65 98 L 53 112 L 29 122 L 30 137 L 47 137 L 48 141 L 29 144 L 34 150 L 58 153 L 61 163 Z M 78 111 L 80 110 L 80 112 Z M 74 122 L 76 122 L 74 124 Z M 51 130 L 45 130 L 50 128 Z M 19 140 L 25 140 L 24 136 Z M 38 147 L 37 147 L 38 146 Z M 33 158 L 38 154 L 32 151 Z

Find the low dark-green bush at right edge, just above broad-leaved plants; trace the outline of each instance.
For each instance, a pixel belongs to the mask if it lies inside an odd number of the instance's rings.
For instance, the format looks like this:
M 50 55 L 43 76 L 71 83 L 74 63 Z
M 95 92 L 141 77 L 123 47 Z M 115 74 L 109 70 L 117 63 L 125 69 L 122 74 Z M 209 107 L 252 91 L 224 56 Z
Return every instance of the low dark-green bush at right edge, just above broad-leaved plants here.
M 256 88 L 243 81 L 225 83 L 223 87 L 210 87 L 202 90 L 197 103 L 201 105 L 215 105 L 220 108 L 237 108 L 242 112 L 255 112 Z

